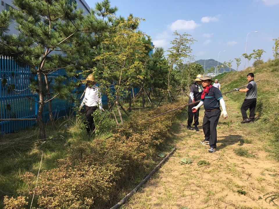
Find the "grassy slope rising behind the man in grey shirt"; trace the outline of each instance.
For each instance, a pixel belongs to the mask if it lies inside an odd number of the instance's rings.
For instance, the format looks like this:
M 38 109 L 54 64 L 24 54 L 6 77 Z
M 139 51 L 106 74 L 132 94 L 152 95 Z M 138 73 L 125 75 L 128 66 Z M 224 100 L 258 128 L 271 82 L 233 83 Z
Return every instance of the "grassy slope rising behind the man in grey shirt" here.
M 257 131 L 267 132 L 271 134 L 267 140 L 267 151 L 273 153 L 273 157 L 279 159 L 279 59 L 270 60 L 255 68 L 247 68 L 245 71 L 223 73 L 216 78 L 220 79 L 221 91 L 229 91 L 235 87 L 240 87 L 247 84 L 246 75 L 254 73 L 254 80 L 259 80 L 257 83 L 257 107 L 256 117 L 259 117 L 257 122 Z M 232 92 L 227 97 L 237 102 L 240 109 L 245 98 L 245 93 Z

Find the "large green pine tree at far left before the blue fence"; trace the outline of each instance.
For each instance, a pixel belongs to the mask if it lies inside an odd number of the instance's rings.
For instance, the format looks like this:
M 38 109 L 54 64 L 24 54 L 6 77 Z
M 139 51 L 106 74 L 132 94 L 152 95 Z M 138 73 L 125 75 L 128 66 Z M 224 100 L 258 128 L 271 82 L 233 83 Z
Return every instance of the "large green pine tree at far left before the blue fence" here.
M 30 88 L 39 97 L 37 122 L 40 137 L 44 140 L 44 104 L 49 102 L 51 110 L 50 102 L 54 97 L 65 99 L 71 95 L 74 88 L 72 82 L 68 82 L 69 85 L 58 85 L 59 88 L 52 86 L 52 94 L 48 75 L 62 68 L 68 76 L 75 75 L 76 68 L 83 65 L 80 62 L 80 55 L 84 54 L 83 49 L 90 48 L 84 34 L 99 34 L 104 28 L 96 23 L 94 11 L 84 16 L 82 9 L 75 9 L 76 3 L 69 5 L 69 1 L 66 0 L 14 0 L 13 3 L 17 9 L 3 10 L 0 15 L 1 49 L 30 66 L 32 72 L 37 75 L 37 81 L 32 82 Z M 18 35 L 5 33 L 12 20 L 16 24 Z M 97 45 L 92 42 L 94 41 L 91 41 L 91 46 Z M 65 81 L 65 78 L 57 78 L 56 84 L 61 84 L 63 79 Z M 52 117 L 51 112 L 50 116 Z

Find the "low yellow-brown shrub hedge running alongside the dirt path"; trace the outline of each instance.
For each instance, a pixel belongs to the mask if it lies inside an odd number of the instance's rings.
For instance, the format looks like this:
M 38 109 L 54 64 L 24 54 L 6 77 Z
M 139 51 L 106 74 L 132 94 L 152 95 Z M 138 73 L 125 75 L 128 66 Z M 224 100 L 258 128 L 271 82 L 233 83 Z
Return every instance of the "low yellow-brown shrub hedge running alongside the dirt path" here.
M 39 208 L 85 209 L 110 201 L 112 190 L 127 172 L 144 162 L 149 149 L 166 140 L 172 122 L 181 110 L 159 116 L 159 113 L 182 105 L 182 101 L 158 109 L 132 114 L 131 119 L 112 133 L 107 140 L 94 139 L 69 147 L 68 155 L 57 162 L 57 167 L 40 173 L 35 205 Z M 17 198 L 5 197 L 6 209 L 27 208 L 35 189 L 37 175 L 26 172 L 22 176 L 30 195 Z

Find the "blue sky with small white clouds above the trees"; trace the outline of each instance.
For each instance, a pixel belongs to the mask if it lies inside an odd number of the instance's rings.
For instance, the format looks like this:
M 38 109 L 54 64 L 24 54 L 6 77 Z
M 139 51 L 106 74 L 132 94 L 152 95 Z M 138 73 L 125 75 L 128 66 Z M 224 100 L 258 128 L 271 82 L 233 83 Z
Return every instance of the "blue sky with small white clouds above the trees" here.
M 100 0 L 101 1 L 101 0 Z M 94 7 L 96 1 L 86 1 Z M 192 45 L 195 59 L 218 59 L 229 61 L 245 53 L 246 36 L 248 35 L 247 53 L 253 49 L 264 49 L 262 58 L 267 61 L 273 58 L 272 39 L 279 37 L 278 11 L 279 0 L 155 0 L 132 1 L 111 0 L 112 6 L 118 7 L 117 16 L 144 18 L 140 30 L 148 34 L 155 47 L 167 50 L 174 38 L 174 30 L 188 33 L 197 42 Z M 242 58 L 244 62 L 244 58 Z M 236 69 L 235 60 L 232 68 Z M 249 66 L 253 64 L 253 59 Z M 246 60 L 246 66 L 247 60 Z M 243 64 L 239 69 L 243 69 Z

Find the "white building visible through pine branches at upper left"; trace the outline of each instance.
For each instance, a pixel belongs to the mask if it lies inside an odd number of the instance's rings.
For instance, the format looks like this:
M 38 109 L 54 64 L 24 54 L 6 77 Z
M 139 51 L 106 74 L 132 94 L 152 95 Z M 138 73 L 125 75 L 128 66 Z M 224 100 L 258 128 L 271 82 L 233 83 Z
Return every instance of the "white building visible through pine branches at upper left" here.
M 12 4 L 12 0 L 0 0 L 0 12 L 2 10 L 9 10 L 10 8 L 14 8 L 14 5 Z M 84 10 L 84 14 L 90 13 L 90 7 L 84 0 L 69 0 L 69 4 L 77 3 L 77 8 L 82 8 Z M 10 25 L 10 34 L 17 34 L 17 30 L 15 30 L 15 24 L 12 23 Z

